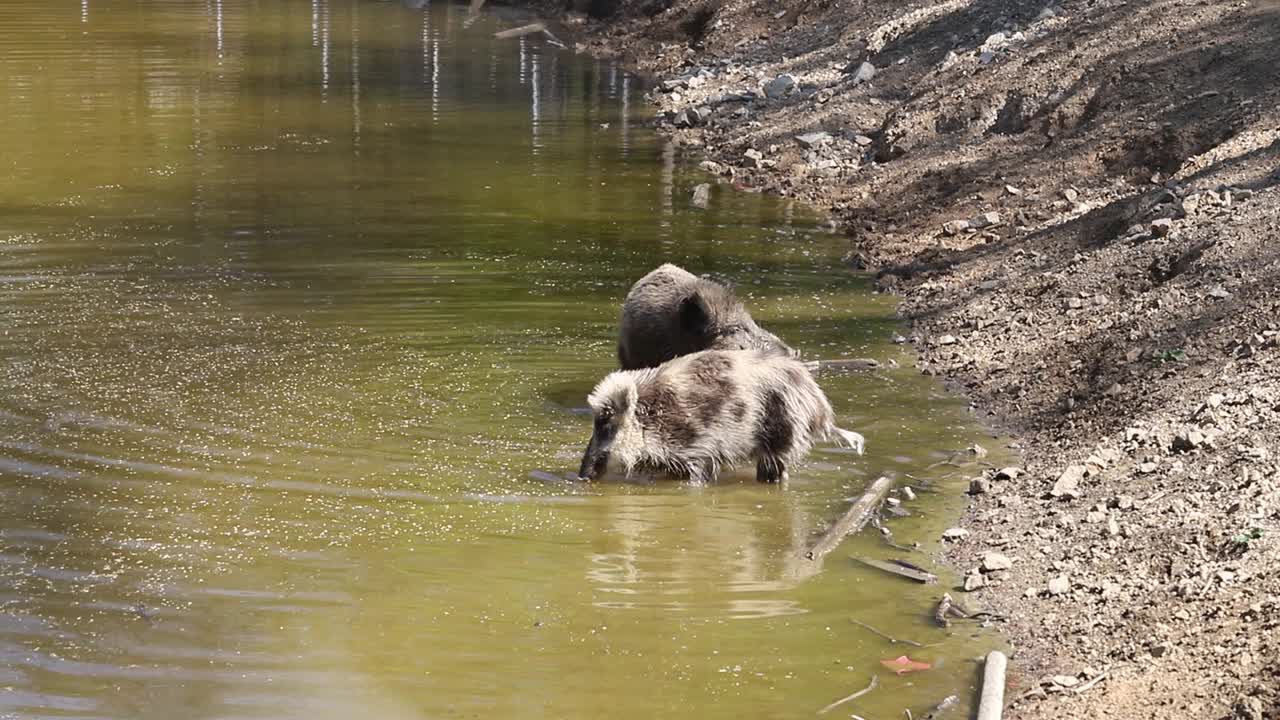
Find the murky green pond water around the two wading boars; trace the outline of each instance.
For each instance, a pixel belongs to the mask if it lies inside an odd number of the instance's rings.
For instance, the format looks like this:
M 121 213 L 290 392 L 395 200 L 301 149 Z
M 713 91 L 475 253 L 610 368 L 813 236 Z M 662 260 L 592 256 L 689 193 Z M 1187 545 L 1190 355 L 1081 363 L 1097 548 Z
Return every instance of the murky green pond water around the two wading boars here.
M 439 3 L 0 4 L 0 716 L 868 719 L 969 697 L 943 587 L 790 560 L 872 478 L 932 547 L 980 439 L 824 377 L 865 457 L 567 483 L 626 288 L 910 359 L 842 242 L 676 165 L 639 81 Z M 906 478 L 910 474 L 914 479 Z M 942 492 L 929 492 L 928 482 Z M 946 577 L 954 582 L 954 577 Z M 928 648 L 890 646 L 858 618 Z M 893 676 L 908 652 L 932 670 Z M 959 715 L 959 714 L 957 714 Z

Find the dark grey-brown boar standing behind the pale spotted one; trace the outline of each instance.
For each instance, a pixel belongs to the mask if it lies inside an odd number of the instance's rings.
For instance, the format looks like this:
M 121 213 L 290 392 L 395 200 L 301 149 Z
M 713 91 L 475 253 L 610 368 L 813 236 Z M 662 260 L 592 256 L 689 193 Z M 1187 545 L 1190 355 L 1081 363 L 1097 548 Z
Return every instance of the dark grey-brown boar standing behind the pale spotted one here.
M 700 350 L 760 350 L 795 356 L 777 336 L 755 324 L 727 287 L 672 264 L 640 278 L 622 304 L 618 366 L 658 365 Z

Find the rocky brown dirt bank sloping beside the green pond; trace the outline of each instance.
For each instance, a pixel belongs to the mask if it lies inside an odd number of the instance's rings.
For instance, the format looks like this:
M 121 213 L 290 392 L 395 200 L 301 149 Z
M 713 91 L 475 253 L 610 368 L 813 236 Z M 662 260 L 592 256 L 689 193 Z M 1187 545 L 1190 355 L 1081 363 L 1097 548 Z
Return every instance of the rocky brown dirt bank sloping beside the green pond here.
M 1007 715 L 1280 717 L 1280 4 L 584 8 L 579 50 L 829 210 L 1019 438 L 948 543 L 1010 618 Z

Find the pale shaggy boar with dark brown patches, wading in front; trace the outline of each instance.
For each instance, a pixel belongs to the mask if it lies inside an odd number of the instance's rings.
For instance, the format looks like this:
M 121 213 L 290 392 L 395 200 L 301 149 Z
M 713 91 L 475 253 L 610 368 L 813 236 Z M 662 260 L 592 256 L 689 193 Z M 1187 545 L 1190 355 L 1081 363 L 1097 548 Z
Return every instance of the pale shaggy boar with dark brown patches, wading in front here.
M 756 479 L 786 479 L 817 441 L 859 454 L 863 437 L 836 427 L 827 396 L 792 357 L 704 351 L 659 368 L 618 370 L 588 397 L 595 429 L 580 475 L 612 464 L 709 482 L 721 468 L 756 461 Z

